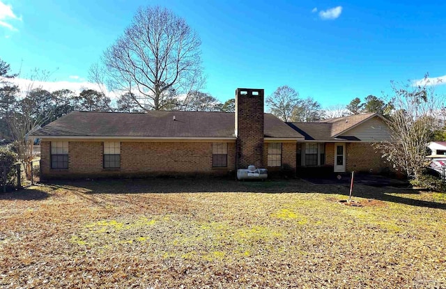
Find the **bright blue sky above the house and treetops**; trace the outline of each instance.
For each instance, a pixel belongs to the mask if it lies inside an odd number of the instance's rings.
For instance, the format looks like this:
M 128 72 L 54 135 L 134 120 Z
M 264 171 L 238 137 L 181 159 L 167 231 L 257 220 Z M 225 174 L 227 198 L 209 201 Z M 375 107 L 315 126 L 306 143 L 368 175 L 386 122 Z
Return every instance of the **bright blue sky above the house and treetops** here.
M 54 71 L 50 81 L 83 82 L 146 5 L 199 33 L 204 91 L 221 101 L 238 87 L 289 85 L 329 107 L 426 72 L 446 83 L 446 1 L 0 0 L 0 58 L 22 78 L 40 68 Z

